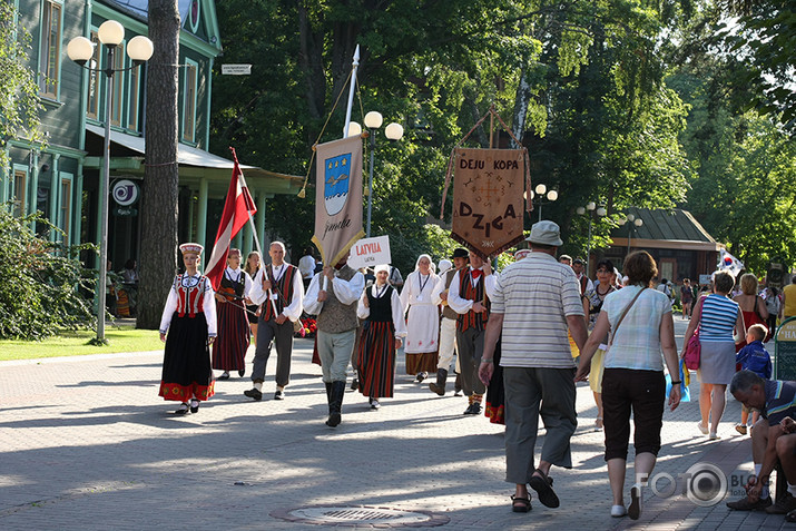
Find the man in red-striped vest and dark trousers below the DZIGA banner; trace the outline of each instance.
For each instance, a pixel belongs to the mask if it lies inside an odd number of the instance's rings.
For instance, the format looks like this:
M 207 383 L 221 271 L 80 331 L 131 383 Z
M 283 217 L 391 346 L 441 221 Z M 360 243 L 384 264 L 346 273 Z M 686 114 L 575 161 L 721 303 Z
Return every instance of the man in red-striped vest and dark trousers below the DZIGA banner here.
M 483 354 L 484 330 L 489 319 L 489 298 L 494 294 L 495 275 L 488 262 L 470 252 L 470 267 L 458 271 L 448 292 L 448 304 L 459 314 L 456 346 L 462 367 L 462 389 L 470 400 L 465 415 L 481 413 L 487 390 L 478 370 Z

